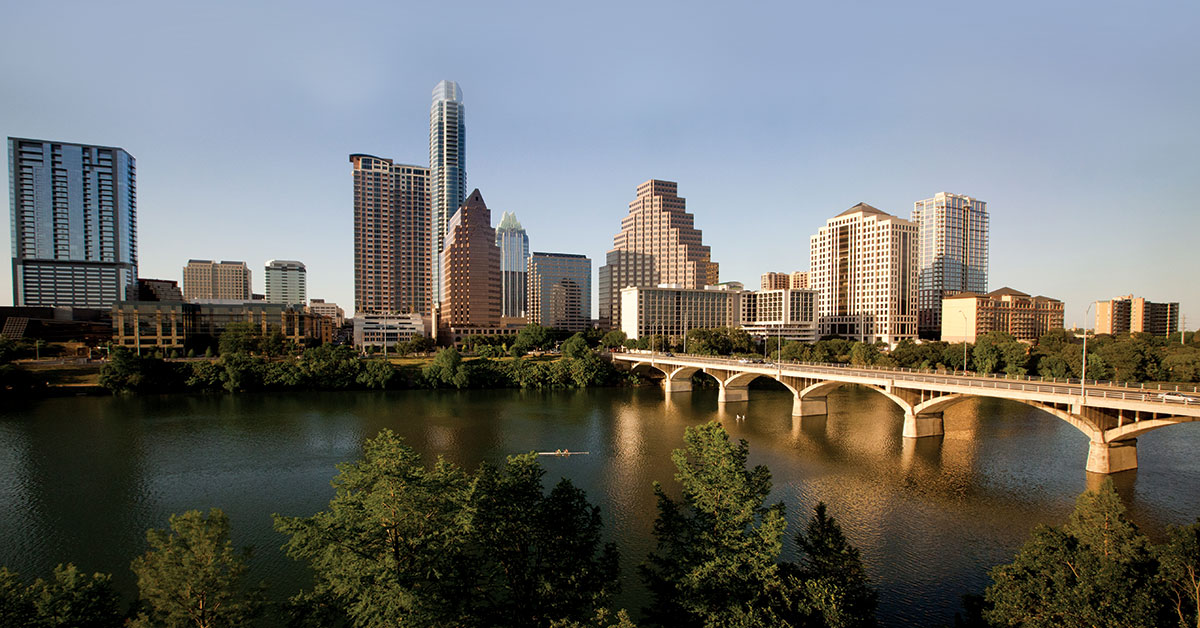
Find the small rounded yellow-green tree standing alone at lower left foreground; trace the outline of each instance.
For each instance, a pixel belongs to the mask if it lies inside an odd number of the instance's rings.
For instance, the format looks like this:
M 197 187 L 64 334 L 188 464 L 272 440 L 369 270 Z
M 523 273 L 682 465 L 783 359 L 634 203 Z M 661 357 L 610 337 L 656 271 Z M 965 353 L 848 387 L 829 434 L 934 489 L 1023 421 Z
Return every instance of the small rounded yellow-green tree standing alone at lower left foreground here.
M 242 587 L 251 551 L 234 550 L 221 509 L 172 515 L 169 530 L 148 531 L 146 543 L 130 566 L 149 608 L 136 626 L 235 627 L 258 612 L 260 592 Z

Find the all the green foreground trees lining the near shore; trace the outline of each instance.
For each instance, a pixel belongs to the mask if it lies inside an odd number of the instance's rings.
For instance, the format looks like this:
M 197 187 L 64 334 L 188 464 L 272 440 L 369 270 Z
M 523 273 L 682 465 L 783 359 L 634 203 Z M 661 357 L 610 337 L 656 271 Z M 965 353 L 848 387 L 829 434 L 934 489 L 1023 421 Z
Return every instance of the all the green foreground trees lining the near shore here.
M 612 608 L 616 545 L 600 509 L 562 479 L 550 490 L 534 453 L 464 469 L 422 460 L 389 430 L 338 465 L 329 506 L 274 516 L 282 549 L 312 587 L 268 599 L 246 581 L 251 550 L 217 508 L 172 515 L 132 558 L 138 599 L 112 575 L 60 564 L 32 582 L 0 568 L 0 626 L 36 627 L 794 627 L 877 626 L 878 592 L 818 503 L 791 520 L 772 476 L 719 423 L 688 427 L 670 491 L 654 483 L 654 548 L 640 557 L 648 605 Z M 674 497 L 678 495 L 678 497 Z M 792 521 L 798 532 L 792 532 Z M 781 556 L 794 534 L 798 556 Z M 1200 521 L 1152 544 L 1110 480 L 1079 496 L 1069 520 L 1037 527 L 985 591 L 964 596 L 961 628 L 1195 627 Z

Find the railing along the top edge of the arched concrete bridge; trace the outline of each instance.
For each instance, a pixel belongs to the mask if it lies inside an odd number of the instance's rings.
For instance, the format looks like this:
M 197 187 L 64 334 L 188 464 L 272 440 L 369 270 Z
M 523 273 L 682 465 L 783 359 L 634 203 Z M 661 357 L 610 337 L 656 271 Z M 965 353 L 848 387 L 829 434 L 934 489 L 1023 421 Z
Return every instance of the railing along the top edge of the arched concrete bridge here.
M 1028 376 L 1009 376 L 994 377 L 982 373 L 961 373 L 961 372 L 946 372 L 936 371 L 932 369 L 908 369 L 902 366 L 871 366 L 871 365 L 852 365 L 852 364 L 838 364 L 838 363 L 812 363 L 812 361 L 800 361 L 800 360 L 778 360 L 778 361 L 754 361 L 746 359 L 736 358 L 722 358 L 714 355 L 696 355 L 696 354 L 638 354 L 647 355 L 655 361 L 659 358 L 665 360 L 672 359 L 688 359 L 691 361 L 704 361 L 718 365 L 733 365 L 733 366 L 754 366 L 763 369 L 781 369 L 782 366 L 800 366 L 810 372 L 828 372 L 839 373 L 847 371 L 863 371 L 869 373 L 889 375 L 893 379 L 901 379 L 905 382 L 918 382 L 918 383 L 937 383 L 947 385 L 966 385 L 974 388 L 991 388 L 991 389 L 1006 389 L 1006 390 L 1024 390 L 1032 393 L 1055 393 L 1055 394 L 1074 394 L 1075 391 L 1086 391 L 1087 396 L 1104 397 L 1104 399 L 1121 399 L 1128 401 L 1151 401 L 1162 402 L 1169 405 L 1184 405 L 1193 406 L 1200 405 L 1200 397 L 1193 397 L 1182 393 L 1200 393 L 1198 387 L 1187 387 L 1181 384 L 1168 384 L 1165 388 L 1163 384 L 1157 384 L 1154 388 L 1147 388 L 1146 384 L 1130 385 L 1128 383 L 1106 382 L 1099 379 L 1088 379 L 1086 382 L 1080 382 L 1078 378 L 1045 378 L 1045 377 L 1028 377 Z M 900 377 L 896 377 L 896 376 Z M 967 382 L 962 379 L 967 378 Z M 1092 387 L 1092 388 L 1087 388 Z

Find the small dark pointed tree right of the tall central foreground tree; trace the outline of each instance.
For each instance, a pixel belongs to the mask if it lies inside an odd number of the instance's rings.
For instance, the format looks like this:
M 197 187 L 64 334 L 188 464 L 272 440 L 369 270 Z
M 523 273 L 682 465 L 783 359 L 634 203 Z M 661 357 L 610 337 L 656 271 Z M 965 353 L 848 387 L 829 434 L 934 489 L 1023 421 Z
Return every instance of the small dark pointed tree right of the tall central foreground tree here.
M 841 526 L 826 514 L 824 503 L 817 503 L 806 531 L 796 540 L 800 561 L 788 566 L 787 572 L 798 580 L 791 588 L 804 593 L 798 606 L 808 615 L 806 624 L 875 626 L 878 594 L 870 586 L 858 550 L 846 540 Z

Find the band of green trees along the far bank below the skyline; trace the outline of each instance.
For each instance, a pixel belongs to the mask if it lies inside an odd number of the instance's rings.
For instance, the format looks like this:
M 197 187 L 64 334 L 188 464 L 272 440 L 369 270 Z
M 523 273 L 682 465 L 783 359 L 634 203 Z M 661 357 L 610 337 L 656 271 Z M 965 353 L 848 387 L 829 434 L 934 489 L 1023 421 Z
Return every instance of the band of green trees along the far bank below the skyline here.
M 1178 341 L 1175 339 L 1178 337 Z M 554 349 L 558 351 L 554 351 Z M 458 347 L 437 349 L 418 337 L 389 354 L 359 353 L 349 346 L 290 346 L 275 333 L 262 335 L 248 323 L 230 325 L 197 355 L 190 349 L 145 348 L 142 354 L 113 347 L 102 363 L 92 360 L 18 361 L 53 351 L 0 339 L 0 394 L 82 393 L 245 393 L 287 390 L 486 389 L 557 390 L 640 385 L 646 379 L 616 369 L 602 351 L 656 349 L 697 355 L 764 358 L 776 361 L 851 364 L 928 369 L 983 375 L 1078 378 L 1082 340 L 1055 330 L 1037 342 L 1019 342 L 992 331 L 973 345 L 901 341 L 888 348 L 845 339 L 816 343 L 756 343 L 739 329 L 692 329 L 686 343 L 662 336 L 626 340 L 622 331 L 588 330 L 575 335 L 528 325 L 516 336 L 468 336 Z M 437 351 L 434 354 L 433 352 Z M 966 361 L 964 361 L 966 358 Z M 1134 334 L 1096 336 L 1088 345 L 1087 376 L 1124 383 L 1200 382 L 1200 334 L 1171 337 Z M 697 385 L 707 376 L 696 375 Z

